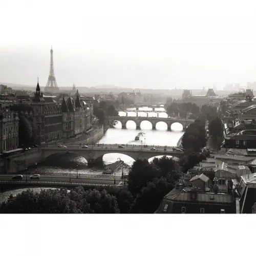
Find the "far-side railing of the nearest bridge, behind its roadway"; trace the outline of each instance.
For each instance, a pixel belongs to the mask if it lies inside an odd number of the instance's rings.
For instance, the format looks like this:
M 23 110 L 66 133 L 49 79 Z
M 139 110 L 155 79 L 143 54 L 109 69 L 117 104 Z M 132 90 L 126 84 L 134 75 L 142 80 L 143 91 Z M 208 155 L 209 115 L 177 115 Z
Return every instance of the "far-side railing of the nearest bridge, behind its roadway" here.
M 35 174 L 35 173 L 33 173 Z M 23 174 L 24 176 L 27 175 L 29 176 L 33 175 L 32 173 L 25 173 Z M 88 179 L 104 179 L 104 180 L 114 180 L 116 177 L 116 180 L 121 180 L 122 176 L 120 175 L 102 175 L 102 174 L 76 174 L 76 173 L 48 173 L 48 172 L 36 172 L 36 174 L 46 176 L 46 177 L 78 177 L 78 178 L 88 178 Z

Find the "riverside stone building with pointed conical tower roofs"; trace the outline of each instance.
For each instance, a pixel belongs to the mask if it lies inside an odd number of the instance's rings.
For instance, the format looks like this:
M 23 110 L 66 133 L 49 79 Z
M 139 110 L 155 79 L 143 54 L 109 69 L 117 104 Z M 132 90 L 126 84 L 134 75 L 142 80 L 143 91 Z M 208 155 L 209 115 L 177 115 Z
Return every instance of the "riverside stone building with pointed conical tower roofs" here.
M 74 98 L 63 96 L 61 103 L 63 137 L 70 138 L 91 127 L 92 112 L 86 101 L 80 99 L 78 90 Z

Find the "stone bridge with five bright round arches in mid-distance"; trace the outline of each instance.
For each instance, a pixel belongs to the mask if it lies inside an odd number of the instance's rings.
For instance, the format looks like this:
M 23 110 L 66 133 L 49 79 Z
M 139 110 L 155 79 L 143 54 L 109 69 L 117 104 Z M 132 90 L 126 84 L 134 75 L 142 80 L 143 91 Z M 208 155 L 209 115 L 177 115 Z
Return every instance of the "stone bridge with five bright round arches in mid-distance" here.
M 150 121 L 152 123 L 152 129 L 156 129 L 156 124 L 158 122 L 165 122 L 167 124 L 167 129 L 170 130 L 170 126 L 173 123 L 180 123 L 183 126 L 183 131 L 186 130 L 187 126 L 193 123 L 193 119 L 177 119 L 177 118 L 164 118 L 164 117 L 143 117 L 143 116 L 110 116 L 109 125 L 113 127 L 113 122 L 117 120 L 122 124 L 122 128 L 126 128 L 127 121 L 134 121 L 136 123 L 136 128 L 140 129 L 140 124 L 142 121 Z

